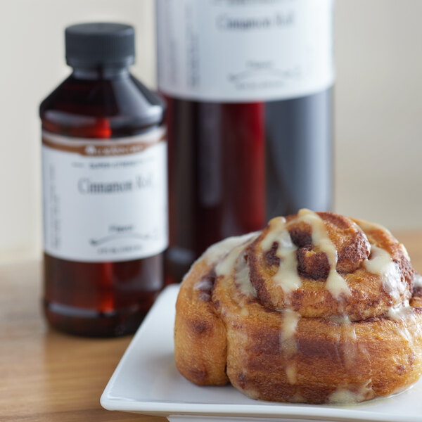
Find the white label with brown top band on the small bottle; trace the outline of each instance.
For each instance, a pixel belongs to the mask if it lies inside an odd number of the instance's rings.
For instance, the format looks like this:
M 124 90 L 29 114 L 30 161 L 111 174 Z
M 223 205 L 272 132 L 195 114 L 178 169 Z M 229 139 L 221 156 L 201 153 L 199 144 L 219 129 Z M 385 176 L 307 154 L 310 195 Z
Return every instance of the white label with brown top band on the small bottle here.
M 113 140 L 42 137 L 46 253 L 117 262 L 167 248 L 165 129 Z

